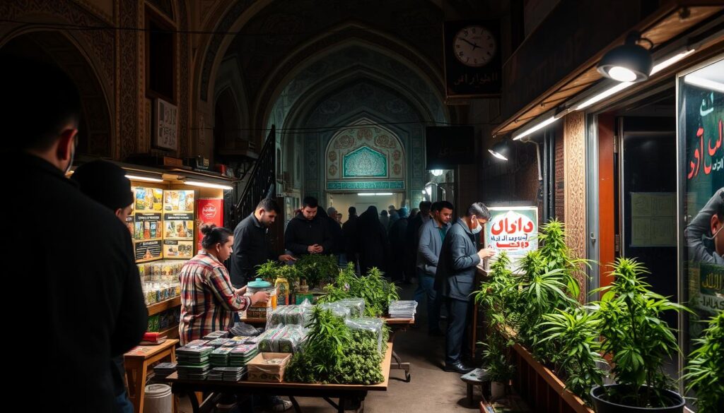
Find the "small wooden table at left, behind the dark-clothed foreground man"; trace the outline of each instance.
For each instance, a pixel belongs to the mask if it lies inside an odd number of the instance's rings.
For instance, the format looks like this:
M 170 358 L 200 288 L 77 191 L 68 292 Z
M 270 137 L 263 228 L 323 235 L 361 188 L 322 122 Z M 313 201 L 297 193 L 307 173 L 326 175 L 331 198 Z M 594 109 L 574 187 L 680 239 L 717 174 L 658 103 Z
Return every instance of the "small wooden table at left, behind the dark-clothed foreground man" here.
M 126 380 L 128 380 L 128 398 L 133 403 L 135 413 L 143 413 L 143 396 L 146 395 L 148 367 L 161 360 L 176 362 L 176 344 L 178 342 L 178 340 L 167 339 L 157 346 L 135 346 L 123 355 Z

